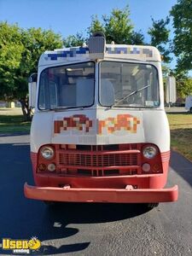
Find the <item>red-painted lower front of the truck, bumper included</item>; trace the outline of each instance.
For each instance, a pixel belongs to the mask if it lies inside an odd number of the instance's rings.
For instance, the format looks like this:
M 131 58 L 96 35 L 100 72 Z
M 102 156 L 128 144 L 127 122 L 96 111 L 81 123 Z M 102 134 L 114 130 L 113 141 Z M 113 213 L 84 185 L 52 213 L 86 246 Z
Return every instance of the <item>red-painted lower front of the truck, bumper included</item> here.
M 94 202 L 160 202 L 160 201 L 176 201 L 177 200 L 177 186 L 172 189 L 162 189 L 166 185 L 167 172 L 169 167 L 170 151 L 158 153 L 154 160 L 148 160 L 152 166 L 158 163 L 161 166 L 160 173 L 142 173 L 141 166 L 143 165 L 142 152 L 144 144 L 123 144 L 119 145 L 119 151 L 103 150 L 101 146 L 95 151 L 77 150 L 62 148 L 62 145 L 51 145 L 57 150 L 64 150 L 66 154 L 92 154 L 96 157 L 112 154 L 137 154 L 138 166 L 102 166 L 102 170 L 115 170 L 122 168 L 121 175 L 106 175 L 101 173 L 99 166 L 86 166 L 87 169 L 94 168 L 94 172 L 98 176 L 84 176 L 84 173 L 77 173 L 77 166 L 61 166 L 71 168 L 71 174 L 66 174 L 65 170 L 61 172 L 38 172 L 38 163 L 43 161 L 41 155 L 38 153 L 31 153 L 33 176 L 37 187 L 32 187 L 25 184 L 25 195 L 28 198 L 47 201 L 94 201 Z M 145 145 L 144 145 L 145 146 Z M 92 146 L 91 146 L 92 147 Z M 94 146 L 97 147 L 97 146 Z M 100 150 L 101 149 L 101 150 Z M 159 150 L 159 149 L 158 149 Z M 79 152 L 80 151 L 80 152 Z M 83 151 L 83 152 L 82 152 Z M 63 151 L 62 151 L 63 152 Z M 58 163 L 59 154 L 55 154 L 55 159 L 50 160 Z M 89 154 L 88 154 L 89 155 Z M 110 156 L 111 157 L 111 156 Z M 112 155 L 113 157 L 113 155 Z M 95 160 L 95 159 L 92 159 Z M 146 159 L 144 159 L 146 162 Z M 45 164 L 49 164 L 48 160 L 44 160 Z M 77 162 L 78 163 L 78 162 Z M 92 162 L 91 162 L 92 163 Z M 98 162 L 99 163 L 99 162 Z M 97 163 L 97 164 L 98 164 Z M 103 163 L 103 162 L 102 162 Z M 110 162 L 111 163 L 111 162 Z M 122 163 L 121 163 L 122 164 Z M 57 166 L 58 167 L 58 166 Z M 80 168 L 81 166 L 78 166 Z M 82 166 L 84 167 L 84 166 Z M 125 171 L 124 171 L 125 170 Z M 137 170 L 136 173 L 129 172 L 129 170 Z M 108 171 L 109 172 L 109 171 Z M 115 173 L 115 172 L 111 172 Z M 101 175 L 100 175 L 101 174 Z M 70 189 L 63 189 L 68 185 Z M 129 185 L 127 187 L 127 185 Z M 67 188 L 68 188 L 67 187 Z M 132 188 L 127 190 L 125 188 Z

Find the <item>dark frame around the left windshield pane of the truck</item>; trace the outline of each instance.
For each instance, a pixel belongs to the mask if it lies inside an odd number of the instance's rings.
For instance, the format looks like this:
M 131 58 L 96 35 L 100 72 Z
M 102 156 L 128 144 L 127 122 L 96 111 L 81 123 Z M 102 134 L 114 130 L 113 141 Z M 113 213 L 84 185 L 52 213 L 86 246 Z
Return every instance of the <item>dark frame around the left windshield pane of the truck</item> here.
M 58 108 L 40 108 L 39 106 L 39 97 L 40 97 L 40 83 L 41 83 L 41 78 L 42 78 L 42 73 L 44 73 L 46 70 L 48 70 L 49 68 L 55 68 L 55 67 L 71 67 L 74 65 L 78 65 L 78 64 L 84 64 L 84 63 L 93 63 L 93 101 L 90 105 L 88 106 L 62 106 L 62 107 L 58 107 Z M 49 94 L 49 92 L 48 92 Z M 39 74 L 39 79 L 38 79 L 38 110 L 39 111 L 61 111 L 61 110 L 65 110 L 65 109 L 71 109 L 71 108 L 90 108 L 92 106 L 95 105 L 95 97 L 96 97 L 96 62 L 95 61 L 79 61 L 79 62 L 75 62 L 75 63 L 65 63 L 65 64 L 60 64 L 60 65 L 51 65 L 49 67 L 45 67 L 41 73 Z M 46 96 L 45 96 L 45 101 L 46 101 Z M 50 106 L 49 106 L 50 107 Z

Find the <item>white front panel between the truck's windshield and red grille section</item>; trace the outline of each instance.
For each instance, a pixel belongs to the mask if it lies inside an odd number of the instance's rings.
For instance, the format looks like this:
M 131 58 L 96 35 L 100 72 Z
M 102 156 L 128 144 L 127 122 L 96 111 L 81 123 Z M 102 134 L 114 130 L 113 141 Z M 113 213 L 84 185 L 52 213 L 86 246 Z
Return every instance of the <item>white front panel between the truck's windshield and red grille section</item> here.
M 170 148 L 170 132 L 163 109 L 87 109 L 38 112 L 32 119 L 31 150 L 44 144 L 105 145 L 154 143 Z

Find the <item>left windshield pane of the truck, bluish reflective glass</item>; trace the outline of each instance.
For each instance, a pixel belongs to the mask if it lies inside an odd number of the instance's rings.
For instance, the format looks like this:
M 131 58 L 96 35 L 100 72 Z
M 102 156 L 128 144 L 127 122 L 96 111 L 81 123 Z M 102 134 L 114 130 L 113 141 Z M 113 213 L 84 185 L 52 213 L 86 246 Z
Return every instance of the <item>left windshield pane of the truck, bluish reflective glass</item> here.
M 90 107 L 94 103 L 95 63 L 49 67 L 40 75 L 38 108 Z

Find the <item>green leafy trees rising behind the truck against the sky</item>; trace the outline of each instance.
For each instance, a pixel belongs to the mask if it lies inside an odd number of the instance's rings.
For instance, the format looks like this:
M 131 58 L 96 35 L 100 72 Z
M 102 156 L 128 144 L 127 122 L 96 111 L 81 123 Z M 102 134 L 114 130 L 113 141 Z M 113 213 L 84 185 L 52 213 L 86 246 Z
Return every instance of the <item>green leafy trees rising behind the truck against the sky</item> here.
M 148 28 L 150 42 L 147 43 L 143 32 L 135 31 L 130 19 L 130 9 L 113 9 L 109 15 L 90 18 L 87 36 L 81 32 L 62 38 L 61 34 L 41 28 L 23 29 L 17 24 L 0 22 L 0 99 L 21 102 L 24 114 L 27 113 L 27 79 L 37 72 L 39 56 L 47 49 L 79 46 L 90 38 L 93 32 L 104 32 L 107 43 L 150 44 L 163 55 L 163 72 L 169 73 L 172 55 L 177 58 L 177 66 L 172 73 L 177 79 L 178 96 L 192 94 L 192 79 L 188 72 L 192 69 L 192 2 L 177 0 L 166 19 L 154 20 Z M 172 26 L 174 38 L 170 38 Z

